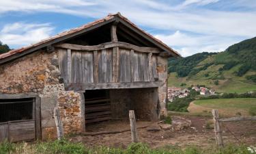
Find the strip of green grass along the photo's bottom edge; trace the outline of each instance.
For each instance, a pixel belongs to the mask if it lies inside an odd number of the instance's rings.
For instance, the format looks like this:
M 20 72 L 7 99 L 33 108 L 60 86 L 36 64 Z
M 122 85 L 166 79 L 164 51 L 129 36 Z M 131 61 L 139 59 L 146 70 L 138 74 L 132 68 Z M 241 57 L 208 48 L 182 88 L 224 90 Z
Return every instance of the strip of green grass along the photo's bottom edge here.
M 105 146 L 95 146 L 91 148 L 85 147 L 81 143 L 69 142 L 68 140 L 56 140 L 52 142 L 37 142 L 32 144 L 20 143 L 10 144 L 8 142 L 0 143 L 1 154 L 236 154 L 236 153 L 250 153 L 246 146 L 228 145 L 224 149 L 218 151 L 214 147 L 208 149 L 201 149 L 197 146 L 186 146 L 180 148 L 178 146 L 167 145 L 159 149 L 151 149 L 150 146 L 143 143 L 132 143 L 126 149 L 109 148 Z

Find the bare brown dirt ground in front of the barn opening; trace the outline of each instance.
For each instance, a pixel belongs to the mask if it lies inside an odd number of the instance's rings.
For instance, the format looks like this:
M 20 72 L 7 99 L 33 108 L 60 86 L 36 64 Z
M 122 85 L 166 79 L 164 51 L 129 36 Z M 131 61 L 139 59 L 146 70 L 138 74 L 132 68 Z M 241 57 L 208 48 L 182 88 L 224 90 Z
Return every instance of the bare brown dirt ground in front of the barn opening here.
M 147 131 L 146 128 L 138 129 L 140 142 L 149 144 L 152 148 L 158 148 L 167 145 L 188 146 L 195 145 L 200 147 L 214 146 L 215 137 L 213 129 L 205 129 L 206 121 L 210 118 L 200 116 L 182 116 L 191 120 L 192 125 L 180 131 L 160 130 Z M 149 121 L 137 121 L 137 127 L 152 125 Z M 248 144 L 256 143 L 256 122 L 240 121 L 221 124 L 223 129 L 224 144 Z M 130 128 L 128 120 L 115 120 L 89 125 L 87 132 L 97 131 L 117 131 Z M 111 146 L 125 148 L 131 142 L 130 131 L 116 134 L 103 134 L 98 136 L 73 136 L 70 140 L 74 142 L 83 142 L 87 146 Z

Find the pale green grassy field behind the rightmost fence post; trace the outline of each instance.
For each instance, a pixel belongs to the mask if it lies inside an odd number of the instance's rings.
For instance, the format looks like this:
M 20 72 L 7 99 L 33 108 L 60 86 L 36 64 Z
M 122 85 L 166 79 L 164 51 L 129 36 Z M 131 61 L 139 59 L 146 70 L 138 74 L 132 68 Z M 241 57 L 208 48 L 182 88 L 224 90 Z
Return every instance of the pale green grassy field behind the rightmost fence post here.
M 211 112 L 212 109 L 218 109 L 223 116 L 249 116 L 251 109 L 256 107 L 255 98 L 238 99 L 208 99 L 197 100 L 190 103 L 188 111 L 191 113 Z

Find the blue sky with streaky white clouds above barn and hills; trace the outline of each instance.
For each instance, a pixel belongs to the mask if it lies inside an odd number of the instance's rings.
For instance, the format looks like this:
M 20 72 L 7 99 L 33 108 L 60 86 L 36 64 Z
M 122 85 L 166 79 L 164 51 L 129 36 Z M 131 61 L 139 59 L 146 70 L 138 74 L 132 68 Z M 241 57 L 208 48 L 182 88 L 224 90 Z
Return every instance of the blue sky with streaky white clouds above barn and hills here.
M 1 0 L 0 40 L 16 49 L 116 12 L 182 56 L 256 36 L 255 0 Z

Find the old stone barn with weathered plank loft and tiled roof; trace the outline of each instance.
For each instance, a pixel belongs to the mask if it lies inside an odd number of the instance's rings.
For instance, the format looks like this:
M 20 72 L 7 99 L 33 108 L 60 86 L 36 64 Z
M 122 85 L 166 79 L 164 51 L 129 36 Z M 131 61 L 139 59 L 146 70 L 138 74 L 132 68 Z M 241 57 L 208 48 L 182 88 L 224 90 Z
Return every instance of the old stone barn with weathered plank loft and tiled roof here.
M 56 138 L 63 132 L 167 114 L 167 58 L 180 56 L 121 14 L 0 55 L 0 141 Z

